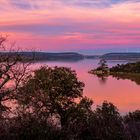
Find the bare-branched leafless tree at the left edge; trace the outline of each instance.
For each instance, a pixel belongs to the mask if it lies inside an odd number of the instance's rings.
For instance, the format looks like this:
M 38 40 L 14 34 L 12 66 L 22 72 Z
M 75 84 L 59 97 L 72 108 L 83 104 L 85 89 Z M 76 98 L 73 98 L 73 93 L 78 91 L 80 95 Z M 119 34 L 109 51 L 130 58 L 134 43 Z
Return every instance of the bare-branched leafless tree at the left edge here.
M 7 38 L 0 37 L 0 114 L 8 107 L 3 102 L 12 99 L 18 87 L 27 75 L 29 63 L 24 63 L 23 57 L 12 49 L 7 49 Z

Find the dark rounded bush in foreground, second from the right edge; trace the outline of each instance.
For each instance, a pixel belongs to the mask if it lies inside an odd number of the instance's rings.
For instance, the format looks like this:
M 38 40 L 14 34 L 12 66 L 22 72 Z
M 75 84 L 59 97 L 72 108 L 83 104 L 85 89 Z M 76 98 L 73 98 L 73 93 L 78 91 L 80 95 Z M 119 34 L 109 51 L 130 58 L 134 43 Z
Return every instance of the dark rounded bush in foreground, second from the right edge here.
M 89 127 L 91 133 L 99 140 L 123 140 L 124 126 L 118 109 L 108 102 L 98 106 L 90 117 Z

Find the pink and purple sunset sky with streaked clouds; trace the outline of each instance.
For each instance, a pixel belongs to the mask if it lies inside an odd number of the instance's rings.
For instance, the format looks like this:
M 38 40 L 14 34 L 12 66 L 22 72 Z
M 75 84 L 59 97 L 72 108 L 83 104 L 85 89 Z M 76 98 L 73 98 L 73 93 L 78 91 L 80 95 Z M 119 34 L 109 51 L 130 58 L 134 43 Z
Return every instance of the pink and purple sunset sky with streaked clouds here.
M 0 0 L 0 34 L 24 50 L 140 51 L 140 0 Z

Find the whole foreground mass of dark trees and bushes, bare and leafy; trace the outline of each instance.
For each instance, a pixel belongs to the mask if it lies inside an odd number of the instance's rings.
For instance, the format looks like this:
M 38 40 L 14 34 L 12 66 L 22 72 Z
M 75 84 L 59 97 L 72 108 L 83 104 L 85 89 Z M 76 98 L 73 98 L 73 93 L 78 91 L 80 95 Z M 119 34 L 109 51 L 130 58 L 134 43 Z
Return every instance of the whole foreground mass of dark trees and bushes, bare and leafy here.
M 1 38 L 5 50 L 4 43 Z M 75 71 L 45 66 L 30 72 L 19 57 L 0 59 L 0 139 L 140 139 L 139 110 L 121 116 L 107 101 L 94 108 Z

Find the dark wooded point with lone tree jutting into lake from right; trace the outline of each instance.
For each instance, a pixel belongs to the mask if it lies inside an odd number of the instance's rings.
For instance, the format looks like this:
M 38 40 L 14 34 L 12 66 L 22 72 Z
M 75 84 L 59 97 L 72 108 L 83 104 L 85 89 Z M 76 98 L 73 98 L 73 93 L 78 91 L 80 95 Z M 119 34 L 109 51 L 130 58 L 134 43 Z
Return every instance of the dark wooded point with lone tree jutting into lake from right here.
M 116 66 L 109 68 L 107 61 L 105 59 L 101 59 L 99 66 L 96 69 L 90 70 L 89 73 L 102 79 L 112 76 L 118 80 L 131 80 L 140 85 L 140 61 L 121 65 L 117 64 Z

